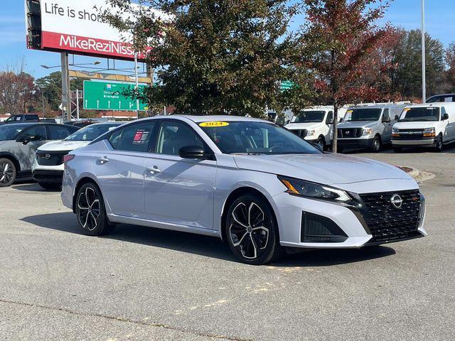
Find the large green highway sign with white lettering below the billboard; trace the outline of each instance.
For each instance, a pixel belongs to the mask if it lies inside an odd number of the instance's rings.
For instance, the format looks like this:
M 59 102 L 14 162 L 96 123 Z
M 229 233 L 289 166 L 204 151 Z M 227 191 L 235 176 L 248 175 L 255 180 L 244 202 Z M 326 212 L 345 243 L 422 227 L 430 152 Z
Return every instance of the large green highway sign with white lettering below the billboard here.
M 137 110 L 136 99 L 128 96 L 135 85 L 127 82 L 84 81 L 84 109 L 87 110 Z M 146 85 L 139 85 L 139 92 Z M 148 110 L 148 104 L 139 101 L 139 110 Z

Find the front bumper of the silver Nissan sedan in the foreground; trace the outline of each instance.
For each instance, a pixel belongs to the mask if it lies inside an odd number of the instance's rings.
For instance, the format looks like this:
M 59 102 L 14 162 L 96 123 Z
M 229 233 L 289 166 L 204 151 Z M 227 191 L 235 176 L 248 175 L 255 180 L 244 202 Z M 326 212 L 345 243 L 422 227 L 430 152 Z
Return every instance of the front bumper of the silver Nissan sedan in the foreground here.
M 400 191 L 397 191 L 400 193 Z M 391 196 L 387 193 L 387 197 Z M 353 205 L 341 205 L 322 200 L 311 200 L 305 197 L 282 193 L 274 197 L 277 204 L 277 220 L 279 222 L 280 242 L 284 247 L 293 248 L 316 248 L 316 249 L 348 249 L 360 248 L 369 245 L 388 244 L 401 242 L 403 240 L 424 237 L 427 232 L 424 229 L 425 201 L 423 195 L 419 201 L 418 222 L 410 230 L 405 223 L 405 215 L 400 215 L 403 220 L 402 231 L 397 224 L 384 224 L 378 226 L 375 220 L 365 211 L 365 207 Z M 387 212 L 385 212 L 387 215 Z M 323 217 L 323 220 L 330 220 L 327 224 L 331 227 L 331 236 L 327 232 L 318 233 L 314 238 L 314 231 L 322 231 L 312 222 L 309 234 L 312 240 L 306 238 L 309 225 L 306 223 L 306 216 Z M 415 217 L 414 217 L 415 218 Z M 323 222 L 323 220 L 320 220 Z M 400 223 L 401 224 L 401 223 Z M 398 224 L 398 225 L 400 225 Z M 322 225 L 320 225 L 322 226 Z M 326 225 L 328 226 L 328 225 Z M 316 227 L 316 228 L 315 228 Z M 338 229 L 337 229 L 338 227 Z M 318 241 L 319 240 L 319 241 Z

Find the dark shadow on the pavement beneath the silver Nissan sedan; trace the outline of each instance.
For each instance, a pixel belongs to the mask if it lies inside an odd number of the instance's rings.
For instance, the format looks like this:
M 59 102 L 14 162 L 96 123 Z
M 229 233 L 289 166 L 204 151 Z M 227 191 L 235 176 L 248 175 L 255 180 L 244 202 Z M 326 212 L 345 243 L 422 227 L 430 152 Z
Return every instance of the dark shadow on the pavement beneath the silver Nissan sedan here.
M 48 215 L 33 215 L 21 219 L 38 227 L 54 229 L 60 232 L 82 234 L 77 226 L 75 215 L 72 212 L 60 212 Z M 227 244 L 215 237 L 177 232 L 152 227 L 119 224 L 112 234 L 101 237 L 122 242 L 149 245 L 198 254 L 225 261 L 237 261 L 231 254 Z M 369 247 L 364 249 L 315 249 L 299 254 L 285 254 L 270 266 L 331 266 L 337 264 L 355 263 L 370 259 L 378 259 L 395 254 L 390 247 Z

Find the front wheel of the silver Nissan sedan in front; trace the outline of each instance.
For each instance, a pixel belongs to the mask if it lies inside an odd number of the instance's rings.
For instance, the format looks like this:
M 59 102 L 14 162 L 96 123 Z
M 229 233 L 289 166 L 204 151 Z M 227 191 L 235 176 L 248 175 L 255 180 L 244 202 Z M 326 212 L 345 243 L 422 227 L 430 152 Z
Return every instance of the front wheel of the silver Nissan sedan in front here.
M 272 208 L 258 195 L 242 195 L 230 205 L 225 232 L 232 253 L 242 263 L 267 264 L 282 254 Z

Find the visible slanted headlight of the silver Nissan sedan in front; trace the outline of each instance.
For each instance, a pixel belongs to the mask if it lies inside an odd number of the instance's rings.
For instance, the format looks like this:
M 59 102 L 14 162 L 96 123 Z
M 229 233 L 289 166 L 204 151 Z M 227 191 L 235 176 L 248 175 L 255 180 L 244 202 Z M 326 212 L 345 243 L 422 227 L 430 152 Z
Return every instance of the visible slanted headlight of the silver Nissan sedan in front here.
M 350 197 L 348 193 L 344 190 L 338 190 L 337 188 L 283 176 L 278 176 L 278 179 L 286 186 L 286 192 L 289 194 L 339 202 L 348 202 L 352 200 L 352 197 Z

